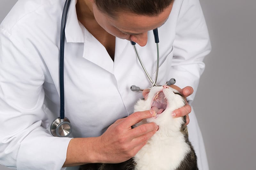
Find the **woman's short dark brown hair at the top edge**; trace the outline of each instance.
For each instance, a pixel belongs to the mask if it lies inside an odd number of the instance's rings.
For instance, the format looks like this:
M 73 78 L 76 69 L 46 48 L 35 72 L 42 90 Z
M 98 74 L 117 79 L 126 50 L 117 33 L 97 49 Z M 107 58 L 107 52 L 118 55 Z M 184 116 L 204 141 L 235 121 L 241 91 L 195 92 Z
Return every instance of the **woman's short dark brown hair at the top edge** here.
M 100 11 L 115 17 L 118 12 L 129 11 L 138 15 L 157 16 L 174 0 L 94 0 Z

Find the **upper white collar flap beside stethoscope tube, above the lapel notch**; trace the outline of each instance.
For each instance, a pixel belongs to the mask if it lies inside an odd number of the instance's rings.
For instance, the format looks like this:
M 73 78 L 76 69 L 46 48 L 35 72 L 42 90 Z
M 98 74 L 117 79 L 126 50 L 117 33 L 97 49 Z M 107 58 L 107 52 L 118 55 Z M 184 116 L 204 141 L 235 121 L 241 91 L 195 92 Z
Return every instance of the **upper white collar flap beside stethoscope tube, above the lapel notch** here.
M 72 0 L 68 9 L 65 35 L 67 42 L 85 42 L 84 26 L 78 21 L 76 15 L 76 2 Z

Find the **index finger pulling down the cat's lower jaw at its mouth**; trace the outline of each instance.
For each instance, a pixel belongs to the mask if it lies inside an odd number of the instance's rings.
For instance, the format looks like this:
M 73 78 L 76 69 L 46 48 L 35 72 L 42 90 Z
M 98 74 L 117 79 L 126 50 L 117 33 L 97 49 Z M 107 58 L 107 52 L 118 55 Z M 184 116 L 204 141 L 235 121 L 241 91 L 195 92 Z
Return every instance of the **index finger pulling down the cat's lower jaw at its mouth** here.
M 142 121 L 143 119 L 150 118 L 156 115 L 154 110 L 146 110 L 141 112 L 134 112 L 133 114 L 126 117 L 121 123 L 125 129 L 131 127 L 132 125 Z

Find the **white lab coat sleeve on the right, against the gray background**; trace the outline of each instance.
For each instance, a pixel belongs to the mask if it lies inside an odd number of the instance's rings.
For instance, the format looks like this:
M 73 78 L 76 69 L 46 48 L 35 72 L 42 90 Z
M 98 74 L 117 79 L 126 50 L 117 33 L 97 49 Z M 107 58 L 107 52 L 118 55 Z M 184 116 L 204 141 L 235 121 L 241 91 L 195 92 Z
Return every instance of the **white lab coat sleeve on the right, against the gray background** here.
M 204 15 L 198 0 L 183 0 L 177 20 L 171 75 L 180 88 L 192 86 L 195 97 L 199 78 L 204 71 L 204 57 L 211 44 Z

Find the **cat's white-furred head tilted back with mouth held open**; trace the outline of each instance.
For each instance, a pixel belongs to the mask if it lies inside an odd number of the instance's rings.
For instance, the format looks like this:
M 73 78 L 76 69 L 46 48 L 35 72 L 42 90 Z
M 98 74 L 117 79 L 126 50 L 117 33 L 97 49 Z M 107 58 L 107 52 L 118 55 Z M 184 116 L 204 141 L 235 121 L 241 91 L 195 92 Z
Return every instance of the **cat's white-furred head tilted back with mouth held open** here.
M 156 115 L 146 121 L 163 125 L 172 122 L 172 111 L 185 105 L 184 97 L 177 90 L 167 85 L 154 86 L 150 89 L 146 99 L 136 103 L 134 111 L 155 110 Z M 180 121 L 184 120 L 180 119 Z

